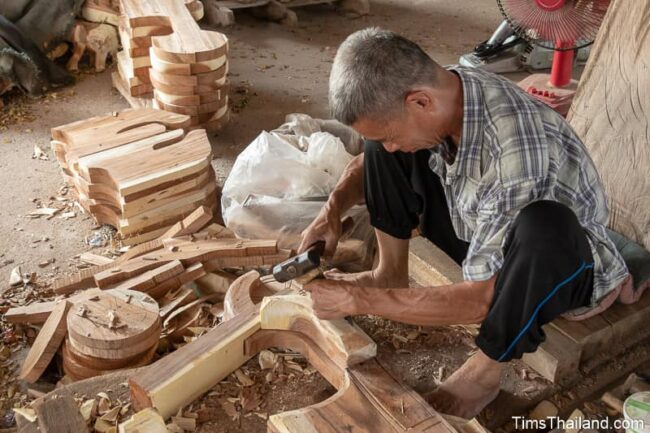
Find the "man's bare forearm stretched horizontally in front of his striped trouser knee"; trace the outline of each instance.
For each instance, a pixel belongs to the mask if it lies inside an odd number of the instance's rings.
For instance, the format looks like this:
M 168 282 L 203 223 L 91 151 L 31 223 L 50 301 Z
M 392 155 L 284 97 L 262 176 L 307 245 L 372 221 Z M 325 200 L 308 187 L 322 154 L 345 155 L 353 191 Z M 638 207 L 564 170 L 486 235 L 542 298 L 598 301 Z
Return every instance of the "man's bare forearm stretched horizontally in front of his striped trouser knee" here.
M 493 284 L 461 282 L 417 289 L 357 288 L 353 314 L 372 314 L 422 326 L 480 323 L 489 309 Z

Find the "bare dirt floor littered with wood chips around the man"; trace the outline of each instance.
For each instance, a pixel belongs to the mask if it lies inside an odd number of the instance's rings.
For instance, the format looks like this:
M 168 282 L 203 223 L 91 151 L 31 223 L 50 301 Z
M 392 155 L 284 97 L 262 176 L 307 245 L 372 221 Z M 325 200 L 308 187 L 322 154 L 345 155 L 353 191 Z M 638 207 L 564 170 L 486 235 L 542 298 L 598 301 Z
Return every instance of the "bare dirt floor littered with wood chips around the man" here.
M 220 184 L 237 154 L 260 131 L 280 125 L 286 114 L 327 116 L 331 62 L 336 47 L 351 32 L 368 26 L 395 30 L 421 44 L 439 63 L 452 64 L 486 39 L 501 21 L 493 0 L 372 0 L 371 14 L 356 19 L 327 5 L 296 12 L 297 27 L 237 13 L 237 24 L 224 30 L 231 43 L 233 115 L 228 126 L 211 137 L 213 165 Z M 74 257 L 92 249 L 85 240 L 98 228 L 79 209 L 71 208 L 76 216 L 69 219 L 30 219 L 26 215 L 39 202 L 56 204 L 57 197 L 66 197 L 61 191 L 58 164 L 49 151 L 50 128 L 127 107 L 111 89 L 110 72 L 114 69 L 111 66 L 101 74 L 82 73 L 73 87 L 30 101 L 24 107 L 13 107 L 24 110 L 23 117 L 31 121 L 4 129 L 0 125 L 0 289 L 15 266 L 48 279 L 74 268 L 78 263 Z M 33 159 L 34 146 L 43 148 L 49 159 Z M 59 199 L 58 203 L 63 202 Z M 39 267 L 39 263 L 43 266 Z M 369 318 L 360 319 L 360 324 L 378 341 L 379 359 L 422 392 L 447 377 L 473 350 L 472 337 L 465 329 L 418 331 Z M 253 377 L 263 377 L 256 365 L 254 358 L 244 370 Z M 513 378 L 522 376 L 521 369 L 521 365 L 509 368 L 505 385 L 508 392 L 514 392 Z M 281 376 L 279 381 L 265 385 L 263 404 L 242 412 L 241 417 L 228 414 L 219 403 L 219 399 L 227 397 L 236 399 L 241 391 L 232 377 L 216 387 L 199 403 L 212 408 L 209 418 L 218 421 L 203 424 L 200 431 L 264 432 L 268 414 L 321 401 L 334 392 L 318 374 L 295 370 Z M 516 387 L 535 395 L 538 383 L 540 379 L 530 375 L 518 380 Z

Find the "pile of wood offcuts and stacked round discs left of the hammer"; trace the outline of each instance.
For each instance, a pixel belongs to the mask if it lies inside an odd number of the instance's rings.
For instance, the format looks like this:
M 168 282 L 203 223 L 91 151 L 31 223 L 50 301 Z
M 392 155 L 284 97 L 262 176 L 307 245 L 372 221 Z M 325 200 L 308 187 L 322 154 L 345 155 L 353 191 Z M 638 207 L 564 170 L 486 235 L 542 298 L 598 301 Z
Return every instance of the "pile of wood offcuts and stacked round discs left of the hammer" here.
M 57 294 L 85 290 L 9 309 L 8 322 L 43 324 L 21 377 L 38 380 L 61 346 L 72 380 L 146 365 L 160 341 L 182 344 L 196 328 L 218 322 L 236 278 L 224 269 L 271 266 L 290 254 L 276 241 L 235 239 L 211 219 L 209 209 L 198 208 L 160 238 L 54 284 Z

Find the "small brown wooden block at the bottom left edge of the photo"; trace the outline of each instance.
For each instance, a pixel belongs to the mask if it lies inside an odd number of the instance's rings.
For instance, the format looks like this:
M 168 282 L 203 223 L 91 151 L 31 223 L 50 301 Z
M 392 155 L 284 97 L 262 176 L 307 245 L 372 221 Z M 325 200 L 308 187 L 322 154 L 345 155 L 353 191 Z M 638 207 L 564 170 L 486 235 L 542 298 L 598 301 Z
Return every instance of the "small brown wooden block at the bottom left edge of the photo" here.
M 88 431 L 72 394 L 45 396 L 32 403 L 41 433 L 83 433 Z

